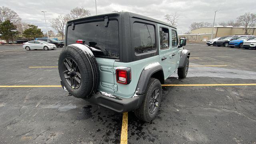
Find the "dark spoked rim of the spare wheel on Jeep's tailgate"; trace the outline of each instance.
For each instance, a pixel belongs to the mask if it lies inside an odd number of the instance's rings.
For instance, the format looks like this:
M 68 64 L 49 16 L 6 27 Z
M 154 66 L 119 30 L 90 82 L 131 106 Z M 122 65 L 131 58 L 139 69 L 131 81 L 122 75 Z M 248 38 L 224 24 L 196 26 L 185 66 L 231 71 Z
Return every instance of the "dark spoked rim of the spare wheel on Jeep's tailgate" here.
M 72 58 L 65 58 L 63 63 L 65 65 L 63 74 L 66 82 L 71 88 L 78 89 L 81 85 L 81 74 L 76 61 Z

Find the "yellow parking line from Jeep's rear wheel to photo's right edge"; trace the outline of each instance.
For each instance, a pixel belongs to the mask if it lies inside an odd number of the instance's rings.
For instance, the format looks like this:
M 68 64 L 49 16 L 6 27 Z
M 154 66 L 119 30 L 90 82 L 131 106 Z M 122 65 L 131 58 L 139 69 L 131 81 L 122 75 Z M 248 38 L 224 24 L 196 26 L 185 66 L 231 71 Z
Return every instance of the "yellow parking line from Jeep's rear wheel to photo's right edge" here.
M 256 86 L 256 84 L 162 84 L 162 86 Z

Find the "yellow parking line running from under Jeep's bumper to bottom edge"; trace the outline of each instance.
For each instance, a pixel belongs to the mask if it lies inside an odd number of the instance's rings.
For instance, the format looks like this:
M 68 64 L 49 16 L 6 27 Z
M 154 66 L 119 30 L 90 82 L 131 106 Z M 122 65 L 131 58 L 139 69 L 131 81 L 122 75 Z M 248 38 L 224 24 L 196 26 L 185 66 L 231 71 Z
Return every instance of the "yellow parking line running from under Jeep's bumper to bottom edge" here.
M 128 143 L 128 112 L 123 113 L 121 142 L 120 144 Z

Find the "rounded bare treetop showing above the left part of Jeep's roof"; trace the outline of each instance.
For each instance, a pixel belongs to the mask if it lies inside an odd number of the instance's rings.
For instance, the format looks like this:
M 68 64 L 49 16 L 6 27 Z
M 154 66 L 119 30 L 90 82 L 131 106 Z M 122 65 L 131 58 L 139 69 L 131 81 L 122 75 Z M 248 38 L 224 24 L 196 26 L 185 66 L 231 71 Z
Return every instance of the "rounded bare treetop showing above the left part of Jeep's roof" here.
M 86 10 L 84 7 L 76 7 L 76 8 L 73 8 L 71 11 L 70 11 L 70 16 L 71 18 L 73 19 L 76 19 L 76 18 L 84 18 L 84 17 L 87 17 L 87 16 L 90 16 L 91 13 L 89 10 Z

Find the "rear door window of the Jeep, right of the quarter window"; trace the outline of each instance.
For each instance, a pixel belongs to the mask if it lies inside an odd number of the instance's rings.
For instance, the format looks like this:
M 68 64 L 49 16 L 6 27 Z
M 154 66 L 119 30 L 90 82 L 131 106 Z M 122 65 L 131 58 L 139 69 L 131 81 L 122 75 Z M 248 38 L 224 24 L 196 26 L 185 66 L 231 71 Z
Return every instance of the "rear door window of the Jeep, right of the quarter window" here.
M 160 50 L 169 48 L 169 30 L 168 28 L 159 28 Z

